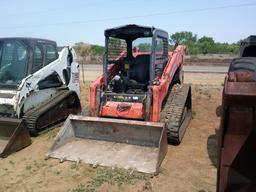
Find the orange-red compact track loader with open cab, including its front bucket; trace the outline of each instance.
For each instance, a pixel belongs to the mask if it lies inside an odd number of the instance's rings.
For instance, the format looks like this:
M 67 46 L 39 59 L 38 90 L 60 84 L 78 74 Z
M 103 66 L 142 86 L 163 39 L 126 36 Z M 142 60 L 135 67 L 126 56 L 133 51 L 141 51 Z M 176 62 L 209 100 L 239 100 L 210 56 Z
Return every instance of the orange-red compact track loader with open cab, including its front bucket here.
M 168 53 L 168 34 L 126 25 L 105 31 L 103 75 L 90 85 L 90 117 L 69 116 L 47 157 L 158 172 L 169 142 L 191 119 L 183 84 L 185 47 Z

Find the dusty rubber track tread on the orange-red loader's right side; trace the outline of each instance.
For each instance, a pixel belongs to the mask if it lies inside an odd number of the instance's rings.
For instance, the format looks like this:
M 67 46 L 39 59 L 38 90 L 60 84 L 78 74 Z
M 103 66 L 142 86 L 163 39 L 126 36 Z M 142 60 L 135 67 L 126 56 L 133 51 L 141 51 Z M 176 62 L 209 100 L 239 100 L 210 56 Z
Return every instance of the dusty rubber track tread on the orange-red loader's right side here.
M 169 143 L 179 144 L 186 131 L 186 125 L 182 126 L 182 118 L 189 87 L 190 85 L 187 84 L 173 85 L 166 104 L 162 109 L 161 122 L 167 124 L 167 138 Z M 187 119 L 186 121 L 189 120 Z

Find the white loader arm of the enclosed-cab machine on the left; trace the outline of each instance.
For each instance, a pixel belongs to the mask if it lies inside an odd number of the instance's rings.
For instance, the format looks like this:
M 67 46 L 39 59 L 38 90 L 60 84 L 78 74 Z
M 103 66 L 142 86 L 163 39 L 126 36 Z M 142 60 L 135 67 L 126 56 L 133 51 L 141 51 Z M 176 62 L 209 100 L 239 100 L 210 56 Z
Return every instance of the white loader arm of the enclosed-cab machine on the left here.
M 69 57 L 72 58 L 69 60 Z M 70 90 L 74 90 L 79 97 L 80 90 L 78 67 L 79 65 L 76 62 L 75 51 L 73 50 L 73 48 L 69 49 L 68 47 L 65 47 L 59 53 L 58 59 L 38 70 L 34 74 L 31 74 L 24 78 L 15 96 L 14 110 L 16 111 L 18 118 L 20 118 L 22 113 L 42 102 L 39 99 L 38 101 L 36 101 L 36 103 L 34 102 L 32 106 L 27 107 L 25 111 L 23 109 L 24 103 L 27 102 L 29 96 L 31 94 L 35 94 L 41 89 L 39 86 L 40 82 L 46 80 L 51 75 L 55 76 L 55 78 L 58 79 L 58 83 L 62 84 L 62 86 L 67 87 Z M 54 88 L 50 91 L 52 91 L 52 94 L 54 94 L 56 92 L 56 89 Z

